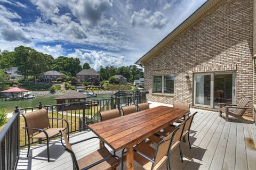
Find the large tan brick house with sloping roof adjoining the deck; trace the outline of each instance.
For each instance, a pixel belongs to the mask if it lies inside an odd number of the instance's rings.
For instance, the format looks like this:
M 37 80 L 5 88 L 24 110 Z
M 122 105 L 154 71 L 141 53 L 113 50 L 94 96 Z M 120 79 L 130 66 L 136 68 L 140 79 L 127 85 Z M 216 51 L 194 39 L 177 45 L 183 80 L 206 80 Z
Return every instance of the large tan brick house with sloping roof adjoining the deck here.
M 209 0 L 135 64 L 145 67 L 150 101 L 218 109 L 255 104 L 256 0 Z

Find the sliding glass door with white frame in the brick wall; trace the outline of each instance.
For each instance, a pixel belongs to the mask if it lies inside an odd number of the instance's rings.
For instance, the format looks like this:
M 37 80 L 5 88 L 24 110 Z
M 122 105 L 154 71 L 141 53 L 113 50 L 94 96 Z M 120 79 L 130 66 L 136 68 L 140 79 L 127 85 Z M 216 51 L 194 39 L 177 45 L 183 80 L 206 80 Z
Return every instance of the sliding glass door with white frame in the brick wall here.
M 219 103 L 235 103 L 235 72 L 194 75 L 194 105 L 218 108 Z

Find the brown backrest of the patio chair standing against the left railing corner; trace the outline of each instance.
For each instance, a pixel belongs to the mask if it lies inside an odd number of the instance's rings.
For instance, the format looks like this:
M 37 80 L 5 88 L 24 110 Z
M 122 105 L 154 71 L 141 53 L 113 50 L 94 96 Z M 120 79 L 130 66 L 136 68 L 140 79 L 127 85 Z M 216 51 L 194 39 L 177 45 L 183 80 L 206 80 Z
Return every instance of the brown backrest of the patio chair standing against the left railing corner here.
M 25 114 L 22 114 L 22 116 L 25 119 L 27 128 L 39 128 L 39 129 L 51 128 L 49 117 L 45 109 L 39 109 L 37 111 L 25 113 Z M 27 132 L 28 132 L 28 135 L 31 135 L 35 132 L 38 132 L 38 130 L 29 129 Z

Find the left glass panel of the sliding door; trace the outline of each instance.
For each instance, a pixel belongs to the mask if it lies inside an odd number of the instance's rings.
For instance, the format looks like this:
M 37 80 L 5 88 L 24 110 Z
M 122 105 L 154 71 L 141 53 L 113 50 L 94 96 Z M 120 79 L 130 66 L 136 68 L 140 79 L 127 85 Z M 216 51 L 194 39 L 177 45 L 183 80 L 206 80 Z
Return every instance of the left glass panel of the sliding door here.
M 211 106 L 211 75 L 195 75 L 195 104 Z

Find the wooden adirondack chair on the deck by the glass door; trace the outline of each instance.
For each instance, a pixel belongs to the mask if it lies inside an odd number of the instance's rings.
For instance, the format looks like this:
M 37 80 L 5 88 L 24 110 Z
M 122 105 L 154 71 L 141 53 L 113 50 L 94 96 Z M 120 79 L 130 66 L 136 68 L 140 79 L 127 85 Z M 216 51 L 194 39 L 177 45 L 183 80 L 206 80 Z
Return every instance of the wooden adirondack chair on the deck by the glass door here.
M 247 121 L 242 116 L 246 109 L 249 107 L 245 107 L 249 103 L 250 99 L 247 97 L 243 97 L 237 105 L 233 104 L 226 104 L 226 103 L 219 103 L 220 104 L 220 117 L 222 116 L 222 113 L 226 114 L 226 121 L 228 121 L 228 116 L 233 116 L 241 121 Z M 230 109 L 234 109 L 234 111 L 231 111 Z

